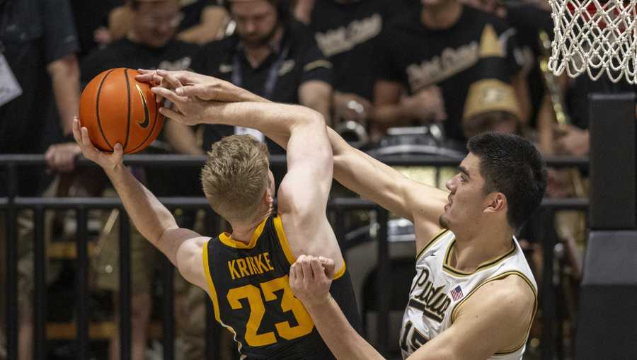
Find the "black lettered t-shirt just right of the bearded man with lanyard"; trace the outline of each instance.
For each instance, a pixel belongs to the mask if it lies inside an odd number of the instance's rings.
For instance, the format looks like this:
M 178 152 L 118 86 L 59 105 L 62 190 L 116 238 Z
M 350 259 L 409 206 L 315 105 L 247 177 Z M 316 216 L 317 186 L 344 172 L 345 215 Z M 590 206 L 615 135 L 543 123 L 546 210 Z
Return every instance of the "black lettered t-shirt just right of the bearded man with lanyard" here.
M 310 28 L 316 44 L 334 66 L 335 90 L 372 100 L 376 77 L 374 48 L 383 26 L 405 11 L 400 4 L 386 0 L 316 1 Z

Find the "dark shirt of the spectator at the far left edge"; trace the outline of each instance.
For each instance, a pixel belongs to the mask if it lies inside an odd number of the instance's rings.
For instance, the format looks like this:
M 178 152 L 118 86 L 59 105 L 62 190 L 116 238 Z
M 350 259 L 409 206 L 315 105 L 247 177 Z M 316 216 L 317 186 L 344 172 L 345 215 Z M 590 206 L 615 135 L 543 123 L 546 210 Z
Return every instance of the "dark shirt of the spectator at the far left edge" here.
M 0 153 L 41 153 L 46 122 L 59 123 L 51 111 L 54 98 L 47 65 L 79 50 L 68 2 L 5 0 L 0 4 L 0 42 L 22 88 L 22 95 L 0 107 Z M 37 185 L 28 181 L 33 177 L 23 178 L 21 194 L 37 193 Z M 1 174 L 0 183 L 6 183 Z

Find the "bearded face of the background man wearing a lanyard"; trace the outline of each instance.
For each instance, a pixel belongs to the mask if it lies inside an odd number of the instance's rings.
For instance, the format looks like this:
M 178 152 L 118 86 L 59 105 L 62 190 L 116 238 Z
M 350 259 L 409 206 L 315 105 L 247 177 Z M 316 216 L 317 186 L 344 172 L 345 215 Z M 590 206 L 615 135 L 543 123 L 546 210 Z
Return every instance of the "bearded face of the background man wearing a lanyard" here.
M 246 47 L 268 44 L 277 30 L 277 8 L 267 0 L 234 0 L 230 11 Z

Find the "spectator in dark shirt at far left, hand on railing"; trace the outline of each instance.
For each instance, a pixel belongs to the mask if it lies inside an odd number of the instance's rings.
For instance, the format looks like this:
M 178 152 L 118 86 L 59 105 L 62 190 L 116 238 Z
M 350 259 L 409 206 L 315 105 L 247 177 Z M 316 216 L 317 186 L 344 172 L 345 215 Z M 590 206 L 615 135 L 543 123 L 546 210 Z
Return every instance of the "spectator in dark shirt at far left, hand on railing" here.
M 76 59 L 79 44 L 68 2 L 0 1 L 0 50 L 4 63 L 0 66 L 0 153 L 42 153 L 45 149 L 43 129 L 47 128 L 49 109 L 54 105 L 57 105 L 54 118 L 59 118 L 59 128 L 69 139 L 71 120 L 79 108 L 79 67 Z M 12 78 L 15 83 L 8 81 Z M 13 85 L 9 85 L 11 83 Z M 61 137 L 56 135 L 58 139 Z M 53 170 L 71 170 L 77 153 L 79 146 L 71 142 L 51 146 L 47 150 L 47 164 Z M 8 194 L 7 180 L 6 169 L 0 168 L 0 196 Z M 41 171 L 21 170 L 17 181 L 18 194 L 40 194 L 41 180 Z M 21 257 L 18 302 L 22 304 L 30 303 L 33 291 L 33 241 L 28 238 L 33 235 L 33 222 L 30 218 L 26 220 L 27 223 L 19 222 L 18 228 Z M 0 219 L 0 228 L 6 228 L 4 217 Z M 6 231 L 0 231 L 0 257 L 3 258 L 5 236 Z M 6 284 L 4 270 L 5 267 L 1 267 L 0 284 Z M 3 295 L 0 301 L 4 300 Z M 0 304 L 0 308 L 5 308 L 4 303 Z M 0 315 L 0 337 L 4 337 L 1 334 L 5 328 L 4 315 L 3 311 Z M 33 358 L 31 315 L 30 307 L 19 312 L 19 359 Z

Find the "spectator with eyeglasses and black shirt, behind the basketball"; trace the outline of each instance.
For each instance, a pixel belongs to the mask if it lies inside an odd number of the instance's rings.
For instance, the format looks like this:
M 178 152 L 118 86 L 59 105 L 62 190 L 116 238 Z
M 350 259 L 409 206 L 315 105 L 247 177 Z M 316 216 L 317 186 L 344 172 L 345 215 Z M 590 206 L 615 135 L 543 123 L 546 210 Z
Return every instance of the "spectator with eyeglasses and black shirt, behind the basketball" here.
M 127 6 L 131 10 L 131 18 L 127 24 L 126 35 L 84 58 L 81 62 L 83 84 L 88 83 L 102 71 L 116 67 L 172 70 L 190 68 L 191 59 L 199 47 L 176 39 L 179 25 L 183 20 L 179 0 L 130 0 Z M 159 136 L 159 141 L 163 141 L 162 144 L 166 144 L 166 138 L 170 137 L 172 126 L 171 120 L 167 119 Z M 200 151 L 194 139 L 183 141 L 183 144 L 193 146 L 195 151 Z M 158 146 L 151 146 L 153 147 L 158 148 Z M 161 146 L 161 149 L 166 149 L 166 146 Z M 173 149 L 176 148 L 168 147 L 168 151 Z M 184 149 L 175 151 L 185 152 Z M 174 176 L 168 176 L 166 171 L 161 168 L 145 168 L 143 172 L 137 171 L 137 174 L 142 175 L 140 179 L 145 178 L 146 185 L 159 196 L 198 195 L 198 193 L 184 190 L 193 188 L 192 185 L 198 182 L 196 169 L 190 172 L 184 169 L 186 176 L 179 177 L 178 180 Z M 91 195 L 99 196 L 101 192 L 103 187 L 98 187 Z M 96 286 L 99 289 L 113 291 L 113 300 L 117 303 L 116 300 L 119 297 L 117 231 L 110 233 L 104 243 L 100 255 L 93 262 L 97 272 Z M 146 356 L 147 328 L 153 303 L 151 301 L 153 272 L 159 269 L 161 261 L 159 261 L 159 252 L 149 246 L 149 243 L 135 230 L 131 233 L 130 248 L 132 359 L 142 360 Z M 117 316 L 117 306 L 115 314 Z M 110 344 L 111 360 L 117 359 L 120 354 L 119 348 L 118 337 L 113 337 Z

